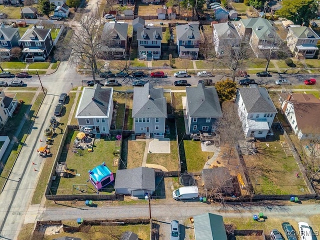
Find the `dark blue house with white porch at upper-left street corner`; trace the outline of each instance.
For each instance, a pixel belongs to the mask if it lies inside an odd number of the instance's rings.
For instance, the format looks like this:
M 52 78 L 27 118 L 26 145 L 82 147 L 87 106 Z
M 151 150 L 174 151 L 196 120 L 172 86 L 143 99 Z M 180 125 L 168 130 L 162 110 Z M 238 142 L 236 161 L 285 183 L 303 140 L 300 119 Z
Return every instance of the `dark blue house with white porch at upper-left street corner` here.
M 28 28 L 21 36 L 19 42 L 22 43 L 22 53 L 25 61 L 44 61 L 53 48 L 51 29 L 42 26 Z

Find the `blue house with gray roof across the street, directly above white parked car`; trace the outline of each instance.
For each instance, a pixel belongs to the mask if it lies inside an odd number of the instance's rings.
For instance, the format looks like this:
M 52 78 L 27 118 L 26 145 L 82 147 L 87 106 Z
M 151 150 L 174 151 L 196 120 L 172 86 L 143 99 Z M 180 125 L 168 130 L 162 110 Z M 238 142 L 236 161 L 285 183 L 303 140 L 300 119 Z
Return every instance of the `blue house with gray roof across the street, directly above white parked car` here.
M 198 58 L 199 44 L 201 40 L 199 24 L 197 22 L 177 25 L 176 42 L 179 57 Z

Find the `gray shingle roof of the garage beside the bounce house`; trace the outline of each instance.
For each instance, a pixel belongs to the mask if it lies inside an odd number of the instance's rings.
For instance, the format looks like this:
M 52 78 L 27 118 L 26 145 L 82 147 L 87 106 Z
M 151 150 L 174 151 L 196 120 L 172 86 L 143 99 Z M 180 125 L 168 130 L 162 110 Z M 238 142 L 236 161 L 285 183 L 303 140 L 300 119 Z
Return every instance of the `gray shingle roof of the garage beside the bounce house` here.
M 127 188 L 128 190 L 144 189 L 154 191 L 154 169 L 142 166 L 130 169 L 119 169 L 115 174 L 114 188 Z

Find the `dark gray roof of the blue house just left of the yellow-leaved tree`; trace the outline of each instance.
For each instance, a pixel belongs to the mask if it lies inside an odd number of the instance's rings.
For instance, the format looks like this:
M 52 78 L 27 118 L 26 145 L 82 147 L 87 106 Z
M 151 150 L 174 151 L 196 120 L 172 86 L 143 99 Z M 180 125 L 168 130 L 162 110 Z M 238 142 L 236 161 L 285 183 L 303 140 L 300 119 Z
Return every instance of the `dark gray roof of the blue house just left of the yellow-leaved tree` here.
M 204 87 L 204 88 L 203 88 Z M 190 117 L 221 117 L 222 111 L 215 87 L 186 87 L 186 100 Z

